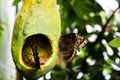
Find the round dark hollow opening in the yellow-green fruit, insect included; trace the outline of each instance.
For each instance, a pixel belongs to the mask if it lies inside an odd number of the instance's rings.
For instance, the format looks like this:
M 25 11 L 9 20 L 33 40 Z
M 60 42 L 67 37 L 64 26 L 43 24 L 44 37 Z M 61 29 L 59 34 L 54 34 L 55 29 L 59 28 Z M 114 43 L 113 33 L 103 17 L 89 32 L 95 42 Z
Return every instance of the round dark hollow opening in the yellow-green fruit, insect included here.
M 33 68 L 44 65 L 52 55 L 50 40 L 42 34 L 29 36 L 22 48 L 23 62 Z

